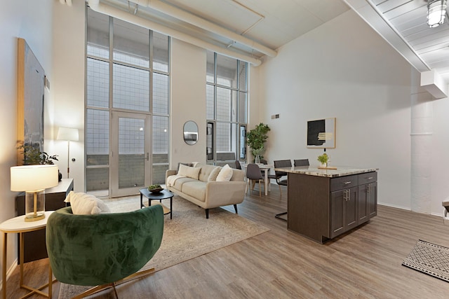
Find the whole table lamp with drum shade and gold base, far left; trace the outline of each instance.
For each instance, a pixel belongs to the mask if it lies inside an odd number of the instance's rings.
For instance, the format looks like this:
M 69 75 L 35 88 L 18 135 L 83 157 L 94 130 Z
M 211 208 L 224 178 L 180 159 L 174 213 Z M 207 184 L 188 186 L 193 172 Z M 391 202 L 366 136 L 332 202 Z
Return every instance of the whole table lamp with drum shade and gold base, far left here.
M 25 191 L 25 221 L 45 218 L 45 189 L 58 186 L 58 165 L 11 167 L 11 191 Z

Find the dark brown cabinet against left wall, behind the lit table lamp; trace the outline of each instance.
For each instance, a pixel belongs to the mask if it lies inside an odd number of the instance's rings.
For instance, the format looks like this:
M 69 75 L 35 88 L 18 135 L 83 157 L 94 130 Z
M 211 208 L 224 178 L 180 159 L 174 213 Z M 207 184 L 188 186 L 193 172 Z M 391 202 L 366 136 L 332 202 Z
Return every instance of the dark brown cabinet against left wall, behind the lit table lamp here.
M 55 211 L 65 207 L 65 197 L 73 190 L 73 179 L 62 179 L 58 186 L 45 190 L 45 210 Z M 15 197 L 15 209 L 17 216 L 25 215 L 25 193 L 20 193 Z M 34 232 L 25 232 L 23 234 L 25 251 L 23 253 L 24 263 L 32 260 L 46 258 L 47 248 L 45 243 L 46 230 L 36 230 Z M 18 236 L 18 260 L 20 260 L 20 238 Z

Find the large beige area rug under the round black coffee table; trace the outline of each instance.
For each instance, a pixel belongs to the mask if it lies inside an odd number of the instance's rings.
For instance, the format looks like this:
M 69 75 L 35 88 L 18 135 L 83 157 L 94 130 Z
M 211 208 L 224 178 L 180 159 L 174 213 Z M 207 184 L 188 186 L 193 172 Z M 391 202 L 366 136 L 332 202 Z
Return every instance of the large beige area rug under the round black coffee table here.
M 145 205 L 147 202 L 148 200 L 144 200 Z M 105 203 L 112 212 L 133 211 L 139 209 L 140 197 L 105 200 Z M 169 200 L 163 200 L 163 204 L 170 207 Z M 268 230 L 221 208 L 210 209 L 209 218 L 206 219 L 204 209 L 175 196 L 173 218 L 170 219 L 170 215 L 165 216 L 161 248 L 142 270 L 152 267 L 156 271 L 162 270 Z M 86 286 L 61 283 L 59 298 L 72 298 L 87 289 Z

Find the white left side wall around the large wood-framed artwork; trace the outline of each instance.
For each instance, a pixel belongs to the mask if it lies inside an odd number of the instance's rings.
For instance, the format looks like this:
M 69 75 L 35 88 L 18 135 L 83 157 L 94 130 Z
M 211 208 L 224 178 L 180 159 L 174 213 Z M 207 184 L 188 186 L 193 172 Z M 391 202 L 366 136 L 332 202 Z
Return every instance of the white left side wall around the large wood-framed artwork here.
M 52 12 L 53 0 L 4 1 L 0 9 L 0 223 L 15 216 L 15 195 L 10 191 L 10 167 L 16 164 L 17 123 L 17 39 L 25 39 L 49 78 L 52 72 Z M 50 95 L 51 96 L 51 95 Z M 45 94 L 46 118 L 48 124 L 48 92 Z M 44 132 L 47 134 L 47 131 Z M 17 258 L 17 237 L 8 237 L 9 271 Z M 3 249 L 3 237 L 0 240 Z M 0 267 L 3 260 L 0 260 Z

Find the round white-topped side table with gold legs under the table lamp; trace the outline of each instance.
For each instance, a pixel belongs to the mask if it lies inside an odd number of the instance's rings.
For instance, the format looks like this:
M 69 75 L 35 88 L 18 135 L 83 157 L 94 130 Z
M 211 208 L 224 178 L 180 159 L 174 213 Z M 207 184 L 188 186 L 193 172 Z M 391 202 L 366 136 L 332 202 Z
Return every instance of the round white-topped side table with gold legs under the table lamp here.
M 51 286 L 53 282 L 53 273 L 51 272 L 51 266 L 49 265 L 48 268 L 48 284 L 44 284 L 43 286 L 40 286 L 39 288 L 32 288 L 31 286 L 27 286 L 23 284 L 23 250 L 25 246 L 25 242 L 23 239 L 25 232 L 34 232 L 36 230 L 42 230 L 43 228 L 46 228 L 47 225 L 47 219 L 48 216 L 51 215 L 53 211 L 46 211 L 45 212 L 45 218 L 39 220 L 39 221 L 32 221 L 32 222 L 25 222 L 25 216 L 18 216 L 15 218 L 8 219 L 7 221 L 4 221 L 0 224 L 0 230 L 3 232 L 4 239 L 3 239 L 3 273 L 2 273 L 2 284 L 3 284 L 3 298 L 6 298 L 6 251 L 8 249 L 8 233 L 18 233 L 20 236 L 20 288 L 25 288 L 30 293 L 25 295 L 22 298 L 28 297 L 29 295 L 32 295 L 34 293 L 38 293 L 39 295 L 43 295 L 47 298 L 51 298 Z M 48 286 L 48 293 L 43 293 L 41 291 L 42 288 L 45 288 Z

